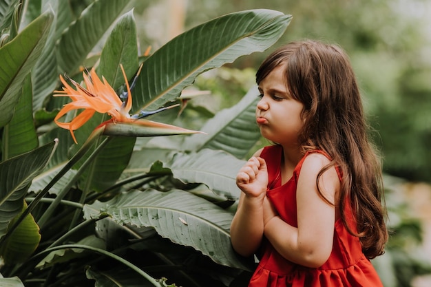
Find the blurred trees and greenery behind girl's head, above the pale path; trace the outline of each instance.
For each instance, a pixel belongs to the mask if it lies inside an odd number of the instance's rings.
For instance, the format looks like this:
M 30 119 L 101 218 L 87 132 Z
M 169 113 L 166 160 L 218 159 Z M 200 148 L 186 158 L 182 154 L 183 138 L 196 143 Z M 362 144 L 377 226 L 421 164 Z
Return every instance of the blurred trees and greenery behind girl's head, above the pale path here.
M 231 67 L 255 70 L 271 50 L 289 41 L 338 43 L 357 73 L 385 171 L 431 181 L 431 1 L 136 1 L 141 50 L 147 45 L 156 50 L 176 34 L 222 14 L 256 8 L 292 14 L 293 20 L 277 44 L 243 56 Z

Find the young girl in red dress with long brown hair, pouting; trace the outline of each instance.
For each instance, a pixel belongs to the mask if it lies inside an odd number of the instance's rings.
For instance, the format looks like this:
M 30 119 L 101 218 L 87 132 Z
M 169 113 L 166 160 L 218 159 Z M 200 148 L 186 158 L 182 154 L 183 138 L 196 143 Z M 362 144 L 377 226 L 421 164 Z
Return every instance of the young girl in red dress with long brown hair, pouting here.
M 290 43 L 256 74 L 264 147 L 240 169 L 235 251 L 260 259 L 249 286 L 382 286 L 388 240 L 381 167 L 337 45 Z

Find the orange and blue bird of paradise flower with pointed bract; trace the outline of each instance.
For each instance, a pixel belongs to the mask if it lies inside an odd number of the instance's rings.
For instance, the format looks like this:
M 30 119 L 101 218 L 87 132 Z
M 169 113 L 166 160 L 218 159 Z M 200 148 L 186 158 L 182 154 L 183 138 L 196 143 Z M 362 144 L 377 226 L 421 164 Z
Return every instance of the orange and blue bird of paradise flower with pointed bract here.
M 67 78 L 76 89 L 71 87 L 63 76 L 60 75 L 60 81 L 63 83 L 63 89 L 54 91 L 53 96 L 68 96 L 72 102 L 67 103 L 59 111 L 59 114 L 54 118 L 54 122 L 63 129 L 70 130 L 70 134 L 75 143 L 76 137 L 74 131 L 87 123 L 92 116 L 98 112 L 101 114 L 108 114 L 111 116 L 109 120 L 98 125 L 96 129 L 103 128 L 103 134 L 108 136 L 162 136 L 174 134 L 195 134 L 200 131 L 192 131 L 183 129 L 174 125 L 167 125 L 157 123 L 151 120 L 144 120 L 143 117 L 151 114 L 156 114 L 159 111 L 170 109 L 178 105 L 171 105 L 169 107 L 162 107 L 156 111 L 141 112 L 140 114 L 130 115 L 129 111 L 132 108 L 132 93 L 131 87 L 127 81 L 123 65 L 120 65 L 127 93 L 118 96 L 114 89 L 107 83 L 104 77 L 102 80 L 96 74 L 94 68 L 87 74 L 83 72 L 83 81 L 85 87 L 74 81 L 72 78 Z M 139 75 L 142 65 L 136 74 Z M 136 80 L 135 77 L 135 80 Z M 132 83 L 132 86 L 134 83 Z M 124 101 L 121 99 L 124 98 Z M 77 114 L 69 123 L 63 123 L 59 119 L 67 114 L 69 111 L 83 109 L 81 113 Z

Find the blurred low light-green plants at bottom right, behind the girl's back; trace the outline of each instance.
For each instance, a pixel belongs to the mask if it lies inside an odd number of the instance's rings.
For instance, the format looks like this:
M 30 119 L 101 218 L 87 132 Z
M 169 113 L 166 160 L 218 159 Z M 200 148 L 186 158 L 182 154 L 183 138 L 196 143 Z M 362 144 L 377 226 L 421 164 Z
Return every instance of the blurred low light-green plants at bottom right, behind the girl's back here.
M 414 200 L 408 195 L 412 184 L 388 175 L 384 180 L 390 239 L 385 254 L 372 262 L 384 286 L 410 287 L 415 277 L 431 273 L 423 247 L 423 222 L 414 212 Z

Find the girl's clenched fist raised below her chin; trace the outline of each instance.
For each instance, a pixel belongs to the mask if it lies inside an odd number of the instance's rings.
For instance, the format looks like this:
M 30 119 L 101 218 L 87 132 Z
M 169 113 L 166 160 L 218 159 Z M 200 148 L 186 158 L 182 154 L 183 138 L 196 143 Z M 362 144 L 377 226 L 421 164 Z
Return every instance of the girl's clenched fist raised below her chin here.
M 249 159 L 236 176 L 236 184 L 248 197 L 262 198 L 266 194 L 268 186 L 268 170 L 263 158 Z

